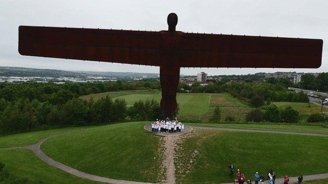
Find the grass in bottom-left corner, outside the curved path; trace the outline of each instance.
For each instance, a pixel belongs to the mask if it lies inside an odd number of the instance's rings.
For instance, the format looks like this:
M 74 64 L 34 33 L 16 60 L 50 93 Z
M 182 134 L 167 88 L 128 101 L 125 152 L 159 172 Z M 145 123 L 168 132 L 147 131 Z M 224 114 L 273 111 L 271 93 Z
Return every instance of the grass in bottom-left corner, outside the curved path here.
M 30 150 L 0 151 L 0 161 L 11 174 L 44 183 L 100 183 L 78 178 L 44 163 Z

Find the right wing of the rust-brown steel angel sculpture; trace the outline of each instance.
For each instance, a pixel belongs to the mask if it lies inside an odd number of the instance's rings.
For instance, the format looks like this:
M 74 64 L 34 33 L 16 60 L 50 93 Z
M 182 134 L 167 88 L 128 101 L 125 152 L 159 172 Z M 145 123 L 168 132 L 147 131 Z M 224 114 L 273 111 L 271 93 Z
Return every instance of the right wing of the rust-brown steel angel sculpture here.
M 321 39 L 185 33 L 180 67 L 318 68 Z

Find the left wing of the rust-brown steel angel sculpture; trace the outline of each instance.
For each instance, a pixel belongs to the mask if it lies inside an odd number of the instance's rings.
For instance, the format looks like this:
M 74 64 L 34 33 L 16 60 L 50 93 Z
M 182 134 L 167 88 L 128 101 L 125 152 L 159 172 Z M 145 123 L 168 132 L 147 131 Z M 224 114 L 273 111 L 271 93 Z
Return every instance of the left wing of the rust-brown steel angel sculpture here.
M 159 32 L 19 26 L 27 56 L 159 66 Z

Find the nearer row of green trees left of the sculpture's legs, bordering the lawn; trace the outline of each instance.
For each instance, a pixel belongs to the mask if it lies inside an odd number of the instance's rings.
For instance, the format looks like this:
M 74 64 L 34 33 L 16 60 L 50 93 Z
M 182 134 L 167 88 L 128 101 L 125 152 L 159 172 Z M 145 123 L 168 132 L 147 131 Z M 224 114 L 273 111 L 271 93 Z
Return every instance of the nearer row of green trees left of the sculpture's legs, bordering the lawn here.
M 161 119 L 161 109 L 154 100 L 138 101 L 128 108 L 124 99 L 112 100 L 108 96 L 97 101 L 73 98 L 62 105 L 37 99 L 14 102 L 0 99 L 2 134 L 48 127 L 108 124 L 124 121 L 127 117 L 132 121 Z

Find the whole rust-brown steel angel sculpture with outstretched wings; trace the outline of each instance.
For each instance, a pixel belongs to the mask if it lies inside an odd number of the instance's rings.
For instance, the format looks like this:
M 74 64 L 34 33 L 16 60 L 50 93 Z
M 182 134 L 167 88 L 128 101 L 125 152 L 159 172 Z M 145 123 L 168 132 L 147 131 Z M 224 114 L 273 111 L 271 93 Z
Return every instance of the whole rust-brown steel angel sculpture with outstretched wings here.
M 163 118 L 172 118 L 180 67 L 318 68 L 321 39 L 19 26 L 18 52 L 26 56 L 160 67 Z

